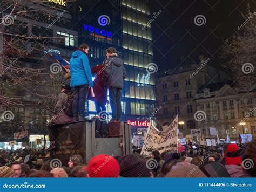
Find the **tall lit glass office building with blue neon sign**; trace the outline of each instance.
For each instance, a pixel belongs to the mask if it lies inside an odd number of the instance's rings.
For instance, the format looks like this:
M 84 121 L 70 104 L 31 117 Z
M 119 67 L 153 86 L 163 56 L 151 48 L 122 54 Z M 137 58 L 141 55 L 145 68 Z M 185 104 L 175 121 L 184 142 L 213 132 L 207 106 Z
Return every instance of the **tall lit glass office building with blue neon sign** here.
M 153 63 L 149 2 L 77 1 L 73 9 L 77 10 L 78 44 L 90 45 L 91 67 L 103 63 L 105 50 L 110 46 L 124 60 L 127 78 L 122 92 L 122 120 L 145 121 L 152 114 L 156 100 L 154 77 L 146 70 Z M 107 24 L 100 18 L 105 18 Z M 87 111 L 90 116 L 96 115 L 93 102 L 89 101 Z M 107 111 L 111 114 L 110 105 Z

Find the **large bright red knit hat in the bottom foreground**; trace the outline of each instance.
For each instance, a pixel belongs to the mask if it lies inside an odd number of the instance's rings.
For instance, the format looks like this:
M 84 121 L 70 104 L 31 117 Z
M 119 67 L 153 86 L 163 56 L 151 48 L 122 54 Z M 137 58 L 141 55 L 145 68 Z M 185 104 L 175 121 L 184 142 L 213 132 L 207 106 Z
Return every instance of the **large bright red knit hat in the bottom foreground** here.
M 120 166 L 113 156 L 102 154 L 92 157 L 87 172 L 90 177 L 119 177 Z

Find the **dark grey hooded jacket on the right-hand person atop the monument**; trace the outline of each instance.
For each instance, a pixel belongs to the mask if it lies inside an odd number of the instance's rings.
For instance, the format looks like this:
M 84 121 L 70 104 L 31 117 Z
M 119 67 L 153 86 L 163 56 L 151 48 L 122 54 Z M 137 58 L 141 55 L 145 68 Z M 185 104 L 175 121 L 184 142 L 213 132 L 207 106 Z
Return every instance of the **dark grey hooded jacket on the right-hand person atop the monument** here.
M 115 56 L 111 56 L 104 61 L 105 70 L 102 81 L 107 88 L 123 88 L 123 80 L 126 78 L 124 62 Z

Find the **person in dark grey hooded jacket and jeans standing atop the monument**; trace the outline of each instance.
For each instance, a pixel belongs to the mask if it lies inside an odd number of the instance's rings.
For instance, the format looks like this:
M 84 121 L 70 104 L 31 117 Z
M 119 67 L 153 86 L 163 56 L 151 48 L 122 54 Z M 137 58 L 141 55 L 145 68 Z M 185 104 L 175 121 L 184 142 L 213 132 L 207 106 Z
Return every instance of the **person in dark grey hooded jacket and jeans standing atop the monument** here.
M 110 47 L 106 50 L 105 70 L 102 81 L 109 88 L 110 105 L 112 109 L 112 120 L 118 122 L 121 118 L 121 91 L 123 80 L 126 78 L 124 62 L 118 58 L 117 50 Z

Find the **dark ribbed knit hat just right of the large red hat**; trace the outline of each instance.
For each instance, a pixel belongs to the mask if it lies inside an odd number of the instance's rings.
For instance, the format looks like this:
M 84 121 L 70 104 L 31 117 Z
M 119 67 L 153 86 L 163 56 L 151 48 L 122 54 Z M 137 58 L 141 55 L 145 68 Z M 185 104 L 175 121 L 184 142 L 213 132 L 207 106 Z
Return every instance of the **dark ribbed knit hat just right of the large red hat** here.
M 125 155 L 118 159 L 120 176 L 122 177 L 150 177 L 150 169 L 146 161 L 136 155 Z

